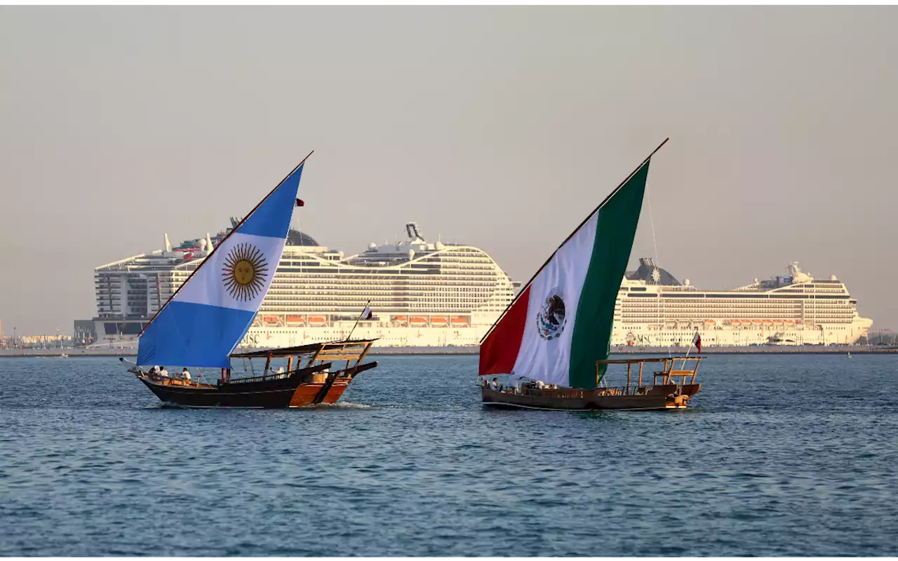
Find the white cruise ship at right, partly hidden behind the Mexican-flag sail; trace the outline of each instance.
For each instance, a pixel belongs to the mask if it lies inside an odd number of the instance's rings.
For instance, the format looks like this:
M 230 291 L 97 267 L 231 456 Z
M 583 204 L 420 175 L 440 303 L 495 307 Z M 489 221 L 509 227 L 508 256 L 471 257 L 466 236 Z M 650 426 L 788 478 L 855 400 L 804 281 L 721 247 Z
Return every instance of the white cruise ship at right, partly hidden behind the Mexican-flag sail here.
M 873 323 L 857 304 L 835 276 L 815 279 L 797 263 L 788 276 L 725 291 L 681 284 L 639 259 L 618 294 L 612 345 L 689 346 L 696 329 L 703 346 L 852 344 Z

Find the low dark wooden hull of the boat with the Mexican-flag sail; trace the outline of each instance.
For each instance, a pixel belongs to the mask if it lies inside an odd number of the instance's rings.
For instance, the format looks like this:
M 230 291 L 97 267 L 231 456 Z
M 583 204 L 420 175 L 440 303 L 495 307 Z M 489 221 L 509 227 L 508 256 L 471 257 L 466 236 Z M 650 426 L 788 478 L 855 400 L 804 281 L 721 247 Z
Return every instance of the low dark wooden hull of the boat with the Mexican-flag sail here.
M 680 388 L 679 392 L 677 388 Z M 638 394 L 616 394 L 609 390 L 517 390 L 497 391 L 482 388 L 483 404 L 503 408 L 599 411 L 607 409 L 671 410 L 685 409 L 689 399 L 699 392 L 701 384 L 647 386 Z

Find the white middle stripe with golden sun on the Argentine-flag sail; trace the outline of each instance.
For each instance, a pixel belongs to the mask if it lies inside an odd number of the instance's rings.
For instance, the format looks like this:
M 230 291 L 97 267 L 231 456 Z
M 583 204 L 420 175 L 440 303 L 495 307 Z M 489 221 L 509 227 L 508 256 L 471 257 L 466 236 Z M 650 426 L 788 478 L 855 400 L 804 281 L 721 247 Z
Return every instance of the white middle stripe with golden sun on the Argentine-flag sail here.
M 234 232 L 172 302 L 257 311 L 277 270 L 284 238 Z

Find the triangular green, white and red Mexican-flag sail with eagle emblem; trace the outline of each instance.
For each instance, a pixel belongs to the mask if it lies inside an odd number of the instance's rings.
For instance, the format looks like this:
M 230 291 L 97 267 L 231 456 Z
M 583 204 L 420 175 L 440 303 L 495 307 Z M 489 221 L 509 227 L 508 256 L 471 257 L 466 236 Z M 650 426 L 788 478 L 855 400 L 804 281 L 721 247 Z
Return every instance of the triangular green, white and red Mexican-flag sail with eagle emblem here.
M 480 341 L 480 375 L 593 389 L 611 349 L 614 305 L 633 247 L 648 164 L 586 217 Z

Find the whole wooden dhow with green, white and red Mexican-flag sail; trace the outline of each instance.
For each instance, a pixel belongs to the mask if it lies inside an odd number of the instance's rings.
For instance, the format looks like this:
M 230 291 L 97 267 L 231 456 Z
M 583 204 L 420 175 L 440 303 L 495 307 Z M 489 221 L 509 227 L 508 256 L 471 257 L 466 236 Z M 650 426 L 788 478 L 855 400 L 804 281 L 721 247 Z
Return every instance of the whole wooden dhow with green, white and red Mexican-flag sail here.
M 575 410 L 686 408 L 700 390 L 695 382 L 700 356 L 608 360 L 615 302 L 636 235 L 648 166 L 666 142 L 586 216 L 480 340 L 484 404 Z M 611 364 L 626 365 L 626 385 L 608 386 Z M 657 369 L 644 373 L 646 364 Z M 521 381 L 521 387 L 500 384 L 497 376 L 502 374 Z M 496 377 L 489 381 L 488 376 Z M 644 384 L 644 376 L 652 383 Z

